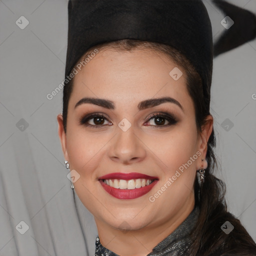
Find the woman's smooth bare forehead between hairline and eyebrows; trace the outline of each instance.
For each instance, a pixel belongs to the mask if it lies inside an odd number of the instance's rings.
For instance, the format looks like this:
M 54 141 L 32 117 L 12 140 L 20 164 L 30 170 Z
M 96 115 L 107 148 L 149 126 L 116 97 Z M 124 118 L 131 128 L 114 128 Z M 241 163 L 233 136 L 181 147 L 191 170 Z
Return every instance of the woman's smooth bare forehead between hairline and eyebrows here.
M 160 96 L 173 97 L 188 107 L 192 104 L 184 70 L 149 49 L 99 50 L 74 76 L 70 105 L 85 96 L 107 98 L 117 106 L 137 105 L 143 99 Z

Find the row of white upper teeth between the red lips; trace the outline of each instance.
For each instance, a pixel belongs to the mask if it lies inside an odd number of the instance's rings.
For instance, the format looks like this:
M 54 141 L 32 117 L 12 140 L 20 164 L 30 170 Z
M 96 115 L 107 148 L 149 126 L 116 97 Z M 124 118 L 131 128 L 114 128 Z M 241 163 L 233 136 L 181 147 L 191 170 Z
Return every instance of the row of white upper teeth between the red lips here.
M 147 186 L 153 182 L 152 179 L 137 178 L 137 179 L 104 179 L 103 182 L 111 187 L 120 189 L 134 189 Z

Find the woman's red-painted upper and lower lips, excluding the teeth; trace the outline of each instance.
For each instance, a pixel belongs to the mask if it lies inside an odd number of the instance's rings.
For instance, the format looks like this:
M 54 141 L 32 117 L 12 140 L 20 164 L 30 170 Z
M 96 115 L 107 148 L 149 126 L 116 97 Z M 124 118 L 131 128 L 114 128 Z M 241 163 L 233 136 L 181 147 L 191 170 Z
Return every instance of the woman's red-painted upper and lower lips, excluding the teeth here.
M 134 189 L 120 189 L 114 188 L 110 185 L 107 185 L 104 180 L 106 179 L 123 179 L 123 180 L 130 180 L 130 179 L 149 179 L 152 182 L 149 185 L 141 186 L 139 188 Z M 140 197 L 146 193 L 148 193 L 152 187 L 157 183 L 158 178 L 154 176 L 145 175 L 138 172 L 130 172 L 130 173 L 121 173 L 121 172 L 113 172 L 98 178 L 100 184 L 108 192 L 110 195 L 114 196 L 118 199 L 134 199 Z

